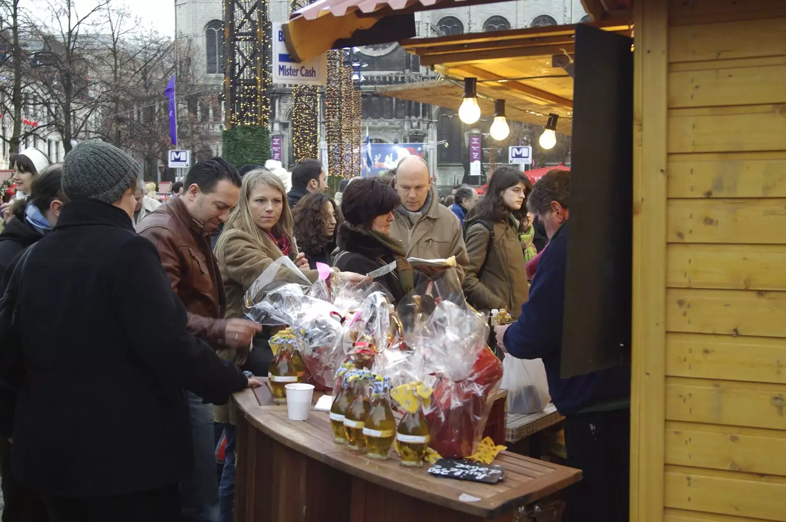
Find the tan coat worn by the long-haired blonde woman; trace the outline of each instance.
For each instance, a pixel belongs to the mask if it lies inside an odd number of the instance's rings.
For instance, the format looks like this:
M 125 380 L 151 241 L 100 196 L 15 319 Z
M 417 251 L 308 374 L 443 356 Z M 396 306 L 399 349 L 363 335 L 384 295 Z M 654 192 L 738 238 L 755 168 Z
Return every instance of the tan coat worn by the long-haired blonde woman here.
M 252 286 L 256 278 L 269 267 L 273 261 L 282 257 L 281 250 L 272 241 L 266 241 L 263 247 L 252 235 L 237 228 L 225 230 L 226 238 L 219 239 L 215 246 L 215 258 L 219 263 L 219 273 L 226 289 L 226 318 L 244 318 L 243 301 L 246 290 Z M 294 248 L 294 246 L 293 246 Z M 311 281 L 316 281 L 316 270 L 303 272 Z M 222 349 L 217 352 L 222 359 L 241 362 L 237 350 Z M 213 407 L 213 418 L 216 422 L 233 422 L 234 412 L 228 414 L 228 407 Z M 234 422 L 233 422 L 234 423 Z

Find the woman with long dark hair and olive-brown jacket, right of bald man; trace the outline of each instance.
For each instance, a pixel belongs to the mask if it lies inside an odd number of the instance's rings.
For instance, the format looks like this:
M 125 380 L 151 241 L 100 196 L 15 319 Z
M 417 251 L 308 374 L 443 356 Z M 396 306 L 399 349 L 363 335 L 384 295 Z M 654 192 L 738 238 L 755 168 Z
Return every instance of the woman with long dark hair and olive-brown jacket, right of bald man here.
M 494 170 L 486 196 L 465 221 L 469 270 L 464 292 L 479 310 L 506 308 L 515 319 L 527 301 L 526 260 L 534 247 L 524 239 L 532 224 L 527 217 L 531 181 L 510 166 Z M 524 239 L 522 239 L 524 238 Z

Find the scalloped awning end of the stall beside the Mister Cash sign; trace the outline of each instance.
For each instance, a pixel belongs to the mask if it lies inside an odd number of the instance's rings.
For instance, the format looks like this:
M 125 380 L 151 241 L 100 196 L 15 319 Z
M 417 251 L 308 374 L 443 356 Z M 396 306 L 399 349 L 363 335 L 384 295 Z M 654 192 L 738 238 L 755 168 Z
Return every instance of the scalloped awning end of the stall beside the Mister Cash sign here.
M 413 13 L 501 0 L 318 0 L 284 24 L 292 57 L 309 60 L 328 49 L 398 42 L 415 36 Z

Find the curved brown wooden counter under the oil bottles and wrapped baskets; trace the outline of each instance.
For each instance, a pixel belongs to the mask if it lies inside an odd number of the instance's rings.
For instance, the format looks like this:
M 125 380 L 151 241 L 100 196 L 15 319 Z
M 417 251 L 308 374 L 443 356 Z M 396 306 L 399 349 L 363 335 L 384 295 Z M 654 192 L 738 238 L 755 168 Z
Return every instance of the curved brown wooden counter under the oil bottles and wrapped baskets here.
M 239 522 L 469 522 L 512 520 L 513 510 L 574 484 L 578 469 L 502 452 L 499 484 L 435 478 L 399 465 L 395 452 L 375 461 L 333 444 L 328 414 L 290 421 L 285 406 L 236 393 L 235 516 Z M 260 404 L 260 402 L 262 404 Z M 460 500 L 461 495 L 478 498 Z

